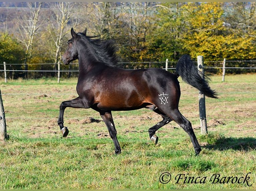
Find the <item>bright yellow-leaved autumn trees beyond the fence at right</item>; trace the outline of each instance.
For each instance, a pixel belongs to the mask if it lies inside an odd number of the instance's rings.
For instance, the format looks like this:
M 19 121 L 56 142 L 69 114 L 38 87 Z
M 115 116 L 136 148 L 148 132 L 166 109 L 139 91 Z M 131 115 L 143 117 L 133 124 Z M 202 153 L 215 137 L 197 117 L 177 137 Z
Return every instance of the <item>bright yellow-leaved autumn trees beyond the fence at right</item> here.
M 184 8 L 189 24 L 182 41 L 191 56 L 201 54 L 207 60 L 256 58 L 255 3 L 188 3 Z

